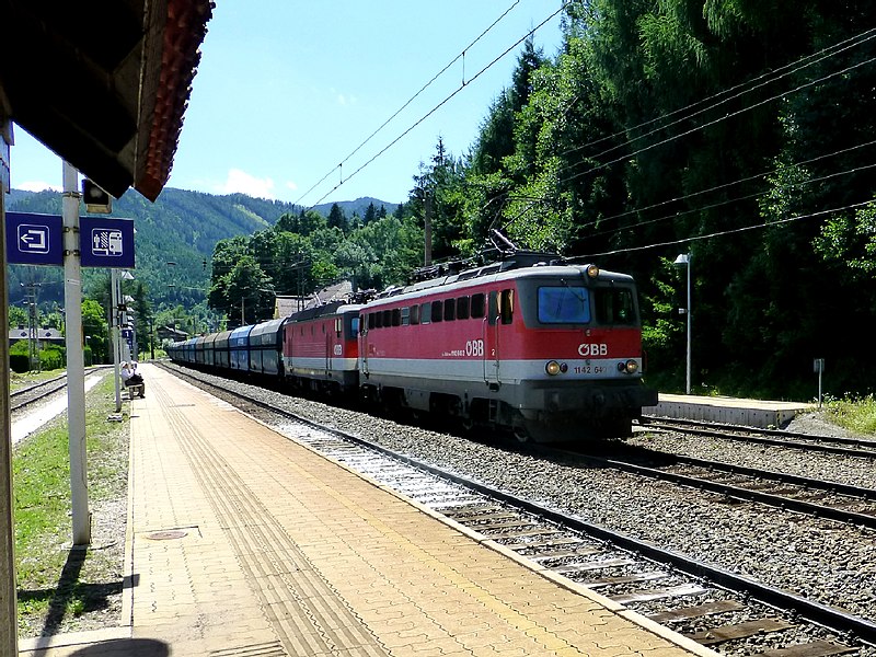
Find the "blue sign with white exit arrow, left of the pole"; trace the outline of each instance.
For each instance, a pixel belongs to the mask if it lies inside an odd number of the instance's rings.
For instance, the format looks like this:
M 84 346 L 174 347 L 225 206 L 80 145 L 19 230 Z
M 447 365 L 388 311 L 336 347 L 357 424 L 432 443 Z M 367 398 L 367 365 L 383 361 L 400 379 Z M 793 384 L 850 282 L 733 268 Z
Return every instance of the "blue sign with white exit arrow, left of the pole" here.
M 61 218 L 7 212 L 7 261 L 15 265 L 64 265 Z

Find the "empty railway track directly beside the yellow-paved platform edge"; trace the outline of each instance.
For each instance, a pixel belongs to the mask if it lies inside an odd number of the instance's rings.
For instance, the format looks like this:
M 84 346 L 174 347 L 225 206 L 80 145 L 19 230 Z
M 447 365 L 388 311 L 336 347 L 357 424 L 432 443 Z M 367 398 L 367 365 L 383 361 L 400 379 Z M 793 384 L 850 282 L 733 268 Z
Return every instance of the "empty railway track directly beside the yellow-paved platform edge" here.
M 785 657 L 873 654 L 865 644 L 876 643 L 876 624 L 868 620 L 416 461 L 254 396 L 228 395 L 195 380 L 244 411 L 283 418 L 285 434 L 484 540 L 717 652 Z M 768 653 L 772 649 L 782 652 Z

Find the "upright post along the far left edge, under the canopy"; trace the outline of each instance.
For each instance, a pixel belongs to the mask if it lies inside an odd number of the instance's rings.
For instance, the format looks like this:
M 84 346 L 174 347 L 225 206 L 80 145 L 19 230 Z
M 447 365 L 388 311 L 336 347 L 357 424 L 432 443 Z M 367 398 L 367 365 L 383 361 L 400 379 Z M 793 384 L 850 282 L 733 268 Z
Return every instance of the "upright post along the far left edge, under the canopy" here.
M 12 123 L 3 116 L 0 96 L 0 224 L 5 226 L 3 197 L 9 191 L 9 145 Z M 0 230 L 0 326 L 9 326 L 5 230 Z M 4 328 L 5 330 L 5 328 Z M 19 654 L 19 616 L 15 600 L 15 520 L 12 496 L 12 423 L 9 403 L 9 341 L 0 339 L 0 655 Z

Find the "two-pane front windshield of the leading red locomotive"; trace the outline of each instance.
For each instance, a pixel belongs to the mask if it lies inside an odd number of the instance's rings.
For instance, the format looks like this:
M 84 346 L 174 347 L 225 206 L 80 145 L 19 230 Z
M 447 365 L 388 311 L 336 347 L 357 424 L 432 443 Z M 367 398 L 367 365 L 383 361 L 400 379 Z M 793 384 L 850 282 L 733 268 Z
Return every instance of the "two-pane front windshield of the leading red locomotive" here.
M 542 324 L 635 325 L 633 291 L 629 288 L 540 287 Z

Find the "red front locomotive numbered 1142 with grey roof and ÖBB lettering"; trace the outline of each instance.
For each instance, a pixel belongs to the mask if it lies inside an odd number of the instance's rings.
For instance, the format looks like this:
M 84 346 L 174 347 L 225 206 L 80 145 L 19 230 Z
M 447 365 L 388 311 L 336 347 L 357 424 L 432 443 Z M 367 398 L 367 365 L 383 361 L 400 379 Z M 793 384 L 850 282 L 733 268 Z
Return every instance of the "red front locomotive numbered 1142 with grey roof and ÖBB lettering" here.
M 516 252 L 369 302 L 359 384 L 382 405 L 504 428 L 521 441 L 625 436 L 642 381 L 632 277 Z

